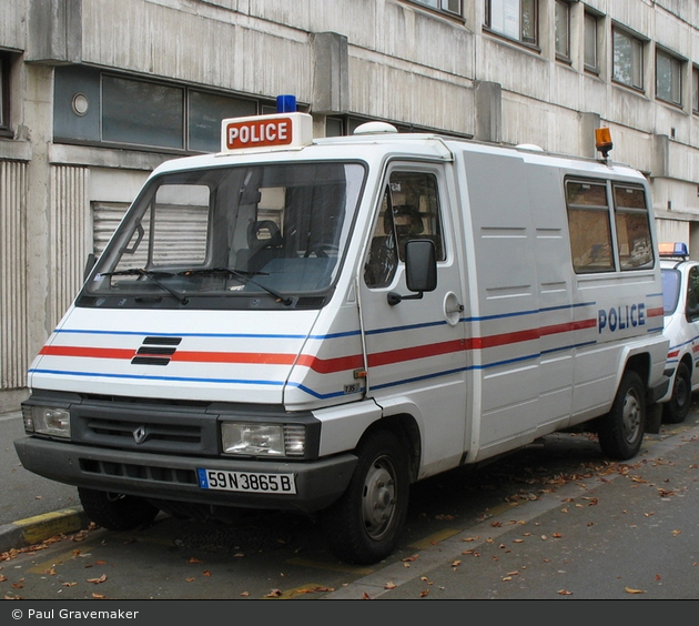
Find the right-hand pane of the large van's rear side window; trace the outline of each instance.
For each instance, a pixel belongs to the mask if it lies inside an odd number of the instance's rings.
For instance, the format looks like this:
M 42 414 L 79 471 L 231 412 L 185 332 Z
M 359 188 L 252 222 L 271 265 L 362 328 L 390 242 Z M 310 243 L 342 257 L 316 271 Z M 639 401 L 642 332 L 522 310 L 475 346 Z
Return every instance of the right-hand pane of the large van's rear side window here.
M 650 219 L 642 188 L 614 185 L 614 203 L 621 270 L 652 265 Z

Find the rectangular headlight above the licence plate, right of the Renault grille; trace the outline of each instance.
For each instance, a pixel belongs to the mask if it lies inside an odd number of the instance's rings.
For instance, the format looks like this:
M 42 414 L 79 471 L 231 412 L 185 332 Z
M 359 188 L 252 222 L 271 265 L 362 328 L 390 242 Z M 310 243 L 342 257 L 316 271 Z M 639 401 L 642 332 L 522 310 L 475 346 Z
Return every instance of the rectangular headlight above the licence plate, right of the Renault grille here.
M 224 454 L 246 456 L 303 456 L 306 430 L 295 424 L 221 423 Z

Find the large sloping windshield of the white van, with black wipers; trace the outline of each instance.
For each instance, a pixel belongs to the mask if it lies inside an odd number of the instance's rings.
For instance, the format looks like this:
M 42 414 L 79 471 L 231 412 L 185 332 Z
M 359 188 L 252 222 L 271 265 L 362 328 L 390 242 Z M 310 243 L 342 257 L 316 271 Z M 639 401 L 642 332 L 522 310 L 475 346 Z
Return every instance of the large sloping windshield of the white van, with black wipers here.
M 357 163 L 154 178 L 101 254 L 78 305 L 322 306 L 363 181 Z

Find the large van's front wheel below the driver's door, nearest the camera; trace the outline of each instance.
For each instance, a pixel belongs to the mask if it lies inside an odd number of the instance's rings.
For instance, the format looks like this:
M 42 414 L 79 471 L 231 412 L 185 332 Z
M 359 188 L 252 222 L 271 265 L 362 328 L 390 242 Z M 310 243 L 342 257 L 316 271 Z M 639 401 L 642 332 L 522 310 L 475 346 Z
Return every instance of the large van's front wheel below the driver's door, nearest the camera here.
M 369 565 L 389 556 L 403 532 L 409 494 L 408 457 L 397 437 L 379 431 L 357 448 L 347 491 L 323 514 L 332 552 Z

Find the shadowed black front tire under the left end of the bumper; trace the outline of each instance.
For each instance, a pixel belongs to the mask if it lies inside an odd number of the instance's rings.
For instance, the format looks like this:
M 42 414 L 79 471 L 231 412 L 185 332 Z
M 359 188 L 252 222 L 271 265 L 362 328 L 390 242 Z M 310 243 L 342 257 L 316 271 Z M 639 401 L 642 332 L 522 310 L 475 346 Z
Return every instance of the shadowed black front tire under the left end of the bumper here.
M 78 487 L 80 503 L 88 517 L 108 531 L 133 531 L 148 526 L 160 509 L 136 496 Z

